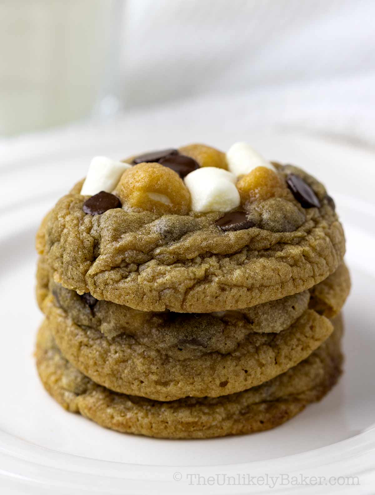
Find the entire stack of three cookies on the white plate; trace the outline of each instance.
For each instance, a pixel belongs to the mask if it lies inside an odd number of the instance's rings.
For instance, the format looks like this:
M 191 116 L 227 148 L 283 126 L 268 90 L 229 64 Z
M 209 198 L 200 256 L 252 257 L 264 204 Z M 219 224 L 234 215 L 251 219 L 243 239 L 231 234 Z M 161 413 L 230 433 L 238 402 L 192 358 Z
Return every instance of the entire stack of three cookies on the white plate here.
M 39 375 L 102 426 L 267 430 L 340 375 L 350 279 L 333 199 L 245 143 L 95 157 L 37 249 Z

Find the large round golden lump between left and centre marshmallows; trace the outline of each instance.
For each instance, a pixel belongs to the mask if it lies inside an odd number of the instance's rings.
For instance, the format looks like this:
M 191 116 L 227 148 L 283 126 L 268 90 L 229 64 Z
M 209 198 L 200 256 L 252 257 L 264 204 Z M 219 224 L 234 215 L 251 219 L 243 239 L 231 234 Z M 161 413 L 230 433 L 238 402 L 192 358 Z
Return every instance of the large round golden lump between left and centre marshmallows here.
M 190 193 L 178 174 L 159 163 L 140 163 L 126 170 L 116 186 L 122 203 L 154 213 L 186 215 Z

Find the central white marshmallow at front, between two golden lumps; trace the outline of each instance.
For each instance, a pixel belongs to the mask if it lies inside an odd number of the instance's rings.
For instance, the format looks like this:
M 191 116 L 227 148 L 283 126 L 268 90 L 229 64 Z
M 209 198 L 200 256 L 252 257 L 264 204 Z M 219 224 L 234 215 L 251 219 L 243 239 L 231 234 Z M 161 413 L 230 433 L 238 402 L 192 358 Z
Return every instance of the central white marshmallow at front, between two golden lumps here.
M 235 176 L 222 168 L 202 167 L 190 172 L 185 185 L 190 192 L 191 209 L 206 213 L 236 208 L 240 198 L 235 182 Z

